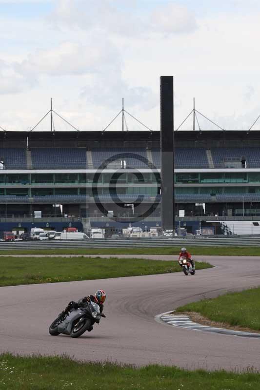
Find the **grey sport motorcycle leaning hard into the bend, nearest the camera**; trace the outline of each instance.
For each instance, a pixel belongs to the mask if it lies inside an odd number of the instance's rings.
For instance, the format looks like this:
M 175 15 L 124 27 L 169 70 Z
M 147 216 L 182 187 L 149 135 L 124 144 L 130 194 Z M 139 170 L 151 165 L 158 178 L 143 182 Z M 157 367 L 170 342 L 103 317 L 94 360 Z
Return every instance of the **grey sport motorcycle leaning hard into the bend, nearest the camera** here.
M 95 302 L 89 302 L 84 308 L 72 309 L 63 316 L 59 316 L 49 327 L 52 336 L 60 333 L 68 334 L 73 338 L 80 337 L 87 330 L 92 330 L 92 326 L 100 323 L 100 317 L 105 317 L 100 313 L 100 307 Z

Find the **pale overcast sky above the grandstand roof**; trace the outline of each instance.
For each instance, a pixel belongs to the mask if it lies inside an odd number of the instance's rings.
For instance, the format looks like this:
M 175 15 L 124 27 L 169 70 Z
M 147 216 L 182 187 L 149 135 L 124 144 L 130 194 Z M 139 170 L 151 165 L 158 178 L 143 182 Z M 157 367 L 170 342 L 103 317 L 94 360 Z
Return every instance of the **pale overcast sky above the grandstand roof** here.
M 159 79 L 173 75 L 175 128 L 195 97 L 222 128 L 247 129 L 260 115 L 259 21 L 256 0 L 0 0 L 0 126 L 32 128 L 52 97 L 75 127 L 102 130 L 124 97 L 159 130 Z M 118 118 L 111 130 L 120 126 Z M 46 118 L 39 130 L 49 128 Z

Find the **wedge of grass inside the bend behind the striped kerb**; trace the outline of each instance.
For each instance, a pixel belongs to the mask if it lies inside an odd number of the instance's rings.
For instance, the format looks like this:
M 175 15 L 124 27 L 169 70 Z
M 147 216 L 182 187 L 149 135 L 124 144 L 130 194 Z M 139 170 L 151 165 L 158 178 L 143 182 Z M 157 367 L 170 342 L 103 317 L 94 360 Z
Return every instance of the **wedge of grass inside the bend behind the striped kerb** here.
M 177 312 L 198 312 L 212 321 L 260 331 L 260 288 L 204 299 L 181 306 Z

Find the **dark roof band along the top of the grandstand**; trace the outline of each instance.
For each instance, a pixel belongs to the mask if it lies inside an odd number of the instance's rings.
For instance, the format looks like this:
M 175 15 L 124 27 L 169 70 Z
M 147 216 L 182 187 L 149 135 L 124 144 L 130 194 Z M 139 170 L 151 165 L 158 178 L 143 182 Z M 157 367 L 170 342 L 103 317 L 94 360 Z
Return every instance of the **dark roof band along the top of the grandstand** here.
M 159 131 L 66 131 L 66 132 L 0 132 L 1 148 L 39 147 L 160 147 Z M 147 142 L 150 142 L 150 144 Z M 241 147 L 260 146 L 260 131 L 178 131 L 176 146 Z M 241 144 L 242 142 L 242 144 Z

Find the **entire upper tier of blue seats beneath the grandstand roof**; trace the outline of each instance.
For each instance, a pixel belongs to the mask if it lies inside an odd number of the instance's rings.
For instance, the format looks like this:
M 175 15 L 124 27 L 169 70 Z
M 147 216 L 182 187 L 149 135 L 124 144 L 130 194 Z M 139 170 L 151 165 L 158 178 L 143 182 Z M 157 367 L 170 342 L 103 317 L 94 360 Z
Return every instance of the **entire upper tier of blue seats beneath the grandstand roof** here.
M 260 148 L 211 148 L 213 166 L 209 166 L 205 148 L 176 148 L 175 168 L 239 168 L 241 159 L 246 161 L 247 168 L 260 167 Z M 124 160 L 125 168 L 147 168 L 151 166 L 144 148 L 94 148 L 91 151 L 93 165 L 87 161 L 85 148 L 32 148 L 32 168 L 35 169 L 85 169 L 99 168 L 114 156 L 116 161 Z M 160 149 L 151 150 L 151 163 L 160 169 Z M 1 148 L 0 158 L 4 161 L 4 169 L 26 169 L 26 151 L 19 148 Z M 120 168 L 120 167 L 119 167 Z

